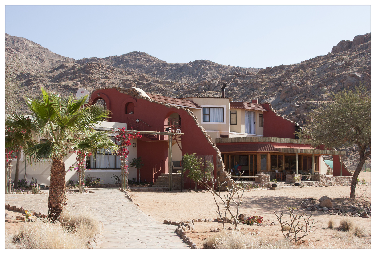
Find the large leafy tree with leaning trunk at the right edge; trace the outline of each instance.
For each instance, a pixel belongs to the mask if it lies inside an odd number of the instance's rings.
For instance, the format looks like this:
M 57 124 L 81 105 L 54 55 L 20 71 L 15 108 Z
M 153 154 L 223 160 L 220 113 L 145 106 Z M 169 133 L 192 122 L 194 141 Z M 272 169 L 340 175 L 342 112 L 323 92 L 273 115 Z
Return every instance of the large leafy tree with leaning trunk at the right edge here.
M 335 102 L 327 109 L 318 109 L 312 124 L 306 126 L 300 138 L 312 142 L 312 147 L 338 149 L 343 145 L 358 145 L 359 162 L 351 181 L 350 198 L 355 198 L 356 179 L 371 154 L 371 97 L 365 86 L 332 95 Z

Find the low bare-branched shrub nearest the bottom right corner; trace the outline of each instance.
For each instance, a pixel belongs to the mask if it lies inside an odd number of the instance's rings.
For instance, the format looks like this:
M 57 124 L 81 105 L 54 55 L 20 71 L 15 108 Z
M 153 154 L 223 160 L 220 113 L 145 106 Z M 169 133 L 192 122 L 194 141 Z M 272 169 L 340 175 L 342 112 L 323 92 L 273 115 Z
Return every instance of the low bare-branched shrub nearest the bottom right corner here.
M 316 229 L 312 230 L 312 226 L 317 223 L 317 222 L 314 222 L 314 219 L 310 221 L 312 217 L 312 213 L 308 217 L 308 215 L 306 215 L 305 213 L 302 213 L 301 215 L 295 215 L 294 214 L 294 210 L 296 210 L 295 207 L 288 207 L 288 210 L 290 212 L 290 223 L 288 223 L 287 221 L 282 221 L 283 212 L 281 213 L 280 216 L 278 216 L 276 212 L 274 212 L 274 214 L 277 216 L 277 220 L 281 226 L 282 234 L 285 237 L 285 239 L 288 239 L 291 241 L 294 240 L 295 242 L 297 242 L 303 237 L 308 236 L 310 233 L 316 231 Z M 300 219 L 304 219 L 305 226 L 299 224 Z M 288 226 L 288 229 L 284 230 L 284 227 L 286 225 Z M 303 234 L 298 236 L 298 234 L 300 233 L 303 233 Z

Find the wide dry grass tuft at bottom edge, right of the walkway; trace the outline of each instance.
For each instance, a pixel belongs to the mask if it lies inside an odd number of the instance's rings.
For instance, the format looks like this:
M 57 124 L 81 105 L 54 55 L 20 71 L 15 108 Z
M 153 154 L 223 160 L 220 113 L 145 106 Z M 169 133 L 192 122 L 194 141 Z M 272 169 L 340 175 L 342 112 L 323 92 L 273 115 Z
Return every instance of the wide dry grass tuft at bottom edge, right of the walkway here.
M 266 237 L 257 237 L 250 233 L 243 234 L 240 230 L 223 231 L 217 235 L 208 237 L 204 243 L 204 247 L 208 248 L 206 246 L 209 244 L 215 249 L 291 248 L 289 240 L 270 240 Z

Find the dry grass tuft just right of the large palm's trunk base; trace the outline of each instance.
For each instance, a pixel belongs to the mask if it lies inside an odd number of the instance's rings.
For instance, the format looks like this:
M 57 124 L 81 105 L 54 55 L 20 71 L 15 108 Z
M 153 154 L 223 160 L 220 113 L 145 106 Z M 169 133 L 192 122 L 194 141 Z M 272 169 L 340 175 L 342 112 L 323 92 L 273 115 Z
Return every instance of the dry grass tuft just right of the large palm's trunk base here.
M 59 221 L 65 230 L 74 231 L 82 239 L 90 240 L 95 234 L 100 232 L 102 225 L 98 219 L 89 212 L 74 212 L 66 209 L 61 213 Z

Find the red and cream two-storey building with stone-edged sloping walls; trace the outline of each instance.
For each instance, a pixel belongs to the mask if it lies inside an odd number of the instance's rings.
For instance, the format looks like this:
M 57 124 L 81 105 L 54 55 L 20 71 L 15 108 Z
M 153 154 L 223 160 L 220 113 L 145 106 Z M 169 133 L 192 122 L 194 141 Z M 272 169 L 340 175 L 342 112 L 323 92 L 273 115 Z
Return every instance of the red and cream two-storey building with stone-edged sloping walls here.
M 230 171 L 235 162 L 245 175 L 264 172 L 271 179 L 276 177 L 276 170 L 326 174 L 321 156 L 333 155 L 334 175 L 340 175 L 341 151 L 314 149 L 309 142 L 296 139 L 296 122 L 277 115 L 270 104 L 259 104 L 257 100 L 248 103 L 224 97 L 170 98 L 146 94 L 139 88 L 106 88 L 94 91 L 91 101 L 111 110 L 107 121 L 126 123 L 127 129 L 164 132 L 168 128 L 169 132 L 184 133 L 173 139 L 172 160 L 180 161 L 185 153 L 212 155 L 214 174 L 223 166 Z M 136 156 L 145 163 L 141 180 L 156 181 L 161 173 L 168 173 L 167 135 L 143 135 L 133 143 Z M 108 169 L 94 165 L 91 168 Z M 138 175 L 135 170 L 130 169 L 130 178 Z M 343 176 L 350 175 L 343 168 Z M 189 180 L 185 179 L 184 187 L 190 187 Z

